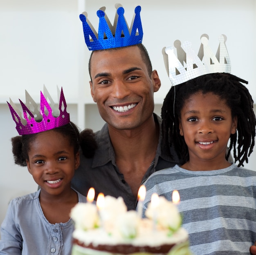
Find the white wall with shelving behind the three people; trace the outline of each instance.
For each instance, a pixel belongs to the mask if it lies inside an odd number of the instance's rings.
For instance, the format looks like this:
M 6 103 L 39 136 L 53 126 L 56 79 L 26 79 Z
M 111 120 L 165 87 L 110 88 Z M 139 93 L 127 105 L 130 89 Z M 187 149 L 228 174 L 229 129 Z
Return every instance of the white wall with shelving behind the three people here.
M 100 129 L 103 121 L 90 96 L 87 71 L 90 53 L 84 43 L 79 14 L 88 11 L 89 20 L 97 27 L 97 9 L 106 6 L 112 21 L 115 3 L 116 0 L 0 0 L 0 223 L 11 198 L 37 189 L 27 169 L 13 164 L 10 138 L 17 133 L 6 100 L 9 97 L 14 102 L 18 98 L 25 100 L 27 89 L 39 101 L 43 84 L 54 98 L 56 85 L 63 86 L 72 121 L 81 129 Z M 157 113 L 170 88 L 162 48 L 180 39 L 190 40 L 197 51 L 203 33 L 208 33 L 213 51 L 218 48 L 218 35 L 227 35 L 232 73 L 249 81 L 249 91 L 256 101 L 255 0 L 121 3 L 128 24 L 135 6 L 140 4 L 142 8 L 143 42 L 162 80 L 162 87 L 155 94 Z M 255 156 L 254 152 L 247 165 L 251 169 L 255 169 Z

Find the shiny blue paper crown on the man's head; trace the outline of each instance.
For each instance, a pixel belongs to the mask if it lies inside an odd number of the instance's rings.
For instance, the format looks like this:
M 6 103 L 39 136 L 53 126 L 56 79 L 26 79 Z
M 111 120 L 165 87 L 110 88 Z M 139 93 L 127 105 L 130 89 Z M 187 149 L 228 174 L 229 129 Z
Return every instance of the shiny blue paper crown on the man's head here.
M 137 6 L 135 8 L 135 15 L 130 28 L 124 18 L 124 8 L 121 4 L 116 4 L 115 7 L 119 8 L 117 8 L 113 26 L 106 16 L 105 7 L 101 7 L 97 11 L 97 16 L 99 17 L 98 34 L 87 19 L 87 13 L 80 14 L 80 20 L 83 22 L 85 43 L 90 51 L 126 47 L 142 42 L 141 7 Z

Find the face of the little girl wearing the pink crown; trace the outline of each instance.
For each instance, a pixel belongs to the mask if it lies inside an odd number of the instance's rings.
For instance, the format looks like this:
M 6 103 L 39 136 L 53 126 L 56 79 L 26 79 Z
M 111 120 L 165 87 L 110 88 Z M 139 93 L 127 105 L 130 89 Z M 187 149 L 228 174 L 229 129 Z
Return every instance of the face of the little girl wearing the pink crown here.
M 61 195 L 70 190 L 75 169 L 80 164 L 79 153 L 61 133 L 53 130 L 38 133 L 29 144 L 27 168 L 41 193 Z

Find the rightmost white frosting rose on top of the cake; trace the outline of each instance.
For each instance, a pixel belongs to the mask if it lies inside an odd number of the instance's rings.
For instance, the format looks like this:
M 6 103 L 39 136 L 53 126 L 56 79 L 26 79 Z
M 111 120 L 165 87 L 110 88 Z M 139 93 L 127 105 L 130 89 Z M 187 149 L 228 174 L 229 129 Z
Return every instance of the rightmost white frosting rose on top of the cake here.
M 150 203 L 145 214 L 149 219 L 155 220 L 157 225 L 168 228 L 172 232 L 180 228 L 182 223 L 177 206 L 164 197 L 159 197 L 157 207 L 153 207 Z

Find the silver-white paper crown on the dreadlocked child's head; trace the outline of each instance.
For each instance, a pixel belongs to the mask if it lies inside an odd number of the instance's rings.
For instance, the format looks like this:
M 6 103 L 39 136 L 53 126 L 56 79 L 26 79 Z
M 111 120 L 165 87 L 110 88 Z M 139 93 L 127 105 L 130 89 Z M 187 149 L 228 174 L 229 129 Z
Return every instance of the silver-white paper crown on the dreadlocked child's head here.
M 201 36 L 201 46 L 196 55 L 192 49 L 191 42 L 181 42 L 176 40 L 174 47 L 177 49 L 177 56 L 172 46 L 163 49 L 165 67 L 171 80 L 172 86 L 181 84 L 198 76 L 207 73 L 230 73 L 231 64 L 225 42 L 225 35 L 219 36 L 219 47 L 216 55 L 209 46 L 209 36 Z M 166 59 L 166 54 L 168 60 Z

